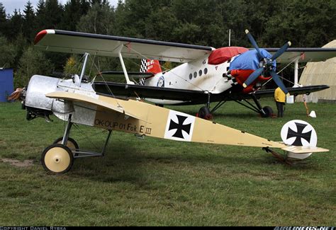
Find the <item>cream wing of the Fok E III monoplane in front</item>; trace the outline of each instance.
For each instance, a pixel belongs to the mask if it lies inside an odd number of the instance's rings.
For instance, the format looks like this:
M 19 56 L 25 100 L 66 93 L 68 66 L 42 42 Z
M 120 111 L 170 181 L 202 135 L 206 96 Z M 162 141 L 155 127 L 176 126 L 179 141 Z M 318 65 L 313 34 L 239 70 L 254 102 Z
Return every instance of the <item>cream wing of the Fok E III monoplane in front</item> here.
M 84 102 L 90 105 L 97 105 L 97 106 L 106 108 L 108 110 L 111 110 L 113 112 L 121 113 L 129 117 L 134 117 L 138 120 L 142 120 L 136 115 L 125 111 L 123 107 L 118 105 L 117 101 L 115 103 L 107 103 L 99 99 L 93 98 L 91 96 L 85 96 L 79 93 L 69 93 L 69 92 L 52 92 L 52 93 L 47 93 L 45 96 L 48 98 L 57 98 L 57 99 L 63 99 L 63 100 L 68 100 L 68 101 L 79 101 L 79 102 Z

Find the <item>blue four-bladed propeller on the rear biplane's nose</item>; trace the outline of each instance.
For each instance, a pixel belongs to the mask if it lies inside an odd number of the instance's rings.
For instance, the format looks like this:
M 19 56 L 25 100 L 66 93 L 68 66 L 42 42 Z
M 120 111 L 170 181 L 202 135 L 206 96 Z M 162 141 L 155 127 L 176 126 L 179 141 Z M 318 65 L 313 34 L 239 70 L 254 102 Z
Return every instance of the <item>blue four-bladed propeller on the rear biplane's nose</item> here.
M 258 76 L 260 76 L 264 71 L 267 71 L 267 73 L 269 73 L 271 75 L 271 77 L 274 80 L 274 82 L 276 83 L 276 85 L 279 86 L 281 88 L 281 90 L 284 91 L 284 93 L 288 94 L 289 91 L 287 91 L 287 88 L 284 85 L 284 83 L 281 81 L 280 76 L 278 74 L 276 74 L 276 72 L 274 71 L 273 62 L 274 62 L 274 60 L 276 60 L 276 58 L 280 57 L 281 54 L 283 54 L 288 49 L 288 47 L 291 46 L 291 42 L 286 42 L 278 51 L 276 51 L 275 54 L 273 54 L 273 56 L 271 58 L 269 58 L 269 57 L 265 57 L 262 54 L 262 52 L 260 51 L 260 49 L 257 45 L 257 42 L 254 40 L 250 31 L 245 30 L 245 33 L 247 35 L 247 38 L 250 40 L 251 44 L 255 48 L 255 50 L 257 50 L 257 55 L 258 55 L 259 60 L 260 60 L 260 65 L 259 65 L 260 68 L 256 69 L 247 78 L 247 80 L 244 82 L 244 84 L 242 86 L 244 86 L 244 88 L 246 88 L 247 86 L 252 84 L 252 82 L 255 81 L 255 79 L 257 79 Z

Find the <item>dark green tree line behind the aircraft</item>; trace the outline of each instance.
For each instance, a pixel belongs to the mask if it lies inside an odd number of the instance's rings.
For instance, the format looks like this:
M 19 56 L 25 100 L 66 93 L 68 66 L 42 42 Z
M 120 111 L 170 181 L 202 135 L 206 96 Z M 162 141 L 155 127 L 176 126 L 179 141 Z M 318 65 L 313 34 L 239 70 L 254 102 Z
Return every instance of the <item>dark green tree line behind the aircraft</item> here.
M 260 47 L 321 47 L 336 39 L 335 0 L 107 0 L 30 1 L 23 11 L 6 13 L 0 0 L 0 67 L 15 69 L 15 85 L 28 84 L 33 74 L 78 71 L 80 57 L 33 49 L 44 29 L 182 42 L 211 47 L 252 47 L 249 29 Z M 120 70 L 118 60 L 95 60 L 99 70 Z M 138 71 L 137 60 L 127 60 Z M 167 65 L 169 66 L 169 64 Z M 78 73 L 78 72 L 77 72 Z

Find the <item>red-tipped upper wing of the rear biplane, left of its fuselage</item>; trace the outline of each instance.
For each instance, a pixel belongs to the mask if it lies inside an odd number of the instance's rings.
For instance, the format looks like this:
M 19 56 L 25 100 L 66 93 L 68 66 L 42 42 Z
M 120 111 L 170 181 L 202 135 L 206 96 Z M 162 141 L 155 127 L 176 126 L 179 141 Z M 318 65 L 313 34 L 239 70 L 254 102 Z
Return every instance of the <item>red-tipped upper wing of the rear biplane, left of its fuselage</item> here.
M 157 59 L 168 62 L 190 62 L 210 54 L 212 47 L 160 42 L 111 35 L 79 33 L 66 30 L 42 30 L 35 37 L 35 47 L 40 50 L 138 59 Z

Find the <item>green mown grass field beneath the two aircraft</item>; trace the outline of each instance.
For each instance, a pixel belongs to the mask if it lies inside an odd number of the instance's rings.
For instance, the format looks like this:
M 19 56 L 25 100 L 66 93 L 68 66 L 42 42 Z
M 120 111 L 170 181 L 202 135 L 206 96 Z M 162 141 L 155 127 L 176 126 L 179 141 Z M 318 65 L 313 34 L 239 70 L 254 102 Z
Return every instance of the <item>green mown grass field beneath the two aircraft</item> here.
M 262 100 L 271 105 L 272 100 Z M 260 148 L 173 142 L 113 132 L 106 156 L 77 159 L 48 175 L 40 154 L 65 123 L 26 120 L 19 103 L 0 103 L 0 226 L 335 226 L 336 106 L 286 105 L 284 118 L 259 118 L 236 103 L 215 122 L 280 141 L 282 125 L 306 120 L 318 133 L 313 154 L 295 166 Z M 172 107 L 195 114 L 199 106 Z M 81 127 L 71 137 L 100 148 L 106 133 Z M 15 159 L 29 163 L 15 166 Z

